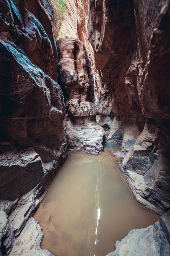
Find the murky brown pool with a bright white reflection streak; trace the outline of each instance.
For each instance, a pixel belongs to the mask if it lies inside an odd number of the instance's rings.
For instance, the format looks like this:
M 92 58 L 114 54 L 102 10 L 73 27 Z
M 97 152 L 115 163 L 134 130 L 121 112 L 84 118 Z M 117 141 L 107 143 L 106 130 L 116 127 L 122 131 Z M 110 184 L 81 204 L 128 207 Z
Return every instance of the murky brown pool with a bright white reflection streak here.
M 115 145 L 113 145 L 115 146 Z M 57 256 L 105 256 L 136 228 L 159 219 L 134 198 L 116 157 L 71 151 L 34 218 L 42 227 L 42 249 Z

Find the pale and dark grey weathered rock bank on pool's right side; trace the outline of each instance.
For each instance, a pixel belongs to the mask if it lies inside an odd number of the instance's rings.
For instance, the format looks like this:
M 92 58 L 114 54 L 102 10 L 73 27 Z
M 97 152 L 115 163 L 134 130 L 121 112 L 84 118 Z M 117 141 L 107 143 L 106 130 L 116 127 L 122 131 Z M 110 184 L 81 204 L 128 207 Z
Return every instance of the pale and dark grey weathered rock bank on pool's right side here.
M 148 120 L 120 166 L 137 200 L 159 214 L 170 209 L 168 133 L 164 123 Z

